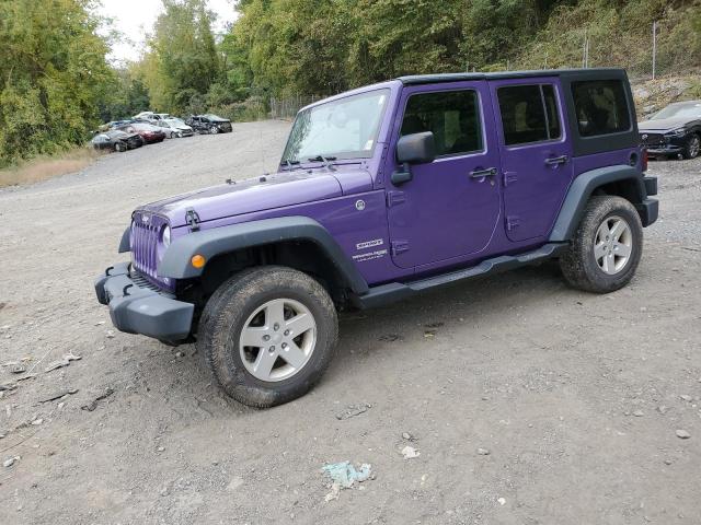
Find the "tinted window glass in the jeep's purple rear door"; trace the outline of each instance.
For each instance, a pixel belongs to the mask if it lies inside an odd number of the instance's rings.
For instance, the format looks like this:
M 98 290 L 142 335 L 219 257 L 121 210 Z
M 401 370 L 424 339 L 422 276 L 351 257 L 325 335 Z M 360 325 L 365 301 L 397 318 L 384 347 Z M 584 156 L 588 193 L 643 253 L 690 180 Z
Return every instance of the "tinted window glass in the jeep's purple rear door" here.
M 560 112 L 551 84 L 499 88 L 497 97 L 506 145 L 560 138 Z

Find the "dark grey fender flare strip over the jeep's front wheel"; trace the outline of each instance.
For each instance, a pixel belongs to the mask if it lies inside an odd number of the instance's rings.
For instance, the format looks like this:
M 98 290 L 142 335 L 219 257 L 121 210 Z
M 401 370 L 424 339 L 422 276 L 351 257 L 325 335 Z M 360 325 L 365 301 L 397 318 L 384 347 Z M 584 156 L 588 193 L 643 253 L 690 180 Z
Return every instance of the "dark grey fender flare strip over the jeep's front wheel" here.
M 368 291 L 367 281 L 336 240 L 324 226 L 308 217 L 263 219 L 189 233 L 174 240 L 168 247 L 158 265 L 158 275 L 172 279 L 199 277 L 204 268 L 195 268 L 191 264 L 194 255 L 199 254 L 210 260 L 217 255 L 241 248 L 295 240 L 310 241 L 318 245 L 355 293 Z

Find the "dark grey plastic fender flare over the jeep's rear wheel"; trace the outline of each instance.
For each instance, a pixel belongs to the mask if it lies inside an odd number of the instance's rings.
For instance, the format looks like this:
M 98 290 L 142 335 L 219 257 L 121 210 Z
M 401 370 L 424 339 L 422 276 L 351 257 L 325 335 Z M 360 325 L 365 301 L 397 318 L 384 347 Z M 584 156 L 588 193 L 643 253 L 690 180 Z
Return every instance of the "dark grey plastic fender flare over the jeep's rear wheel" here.
M 636 188 L 636 202 L 639 205 L 645 201 L 647 192 L 645 190 L 645 183 L 643 182 L 642 173 L 632 166 L 616 165 L 599 167 L 589 172 L 584 172 L 573 180 L 560 213 L 555 225 L 550 233 L 550 243 L 562 243 L 570 241 L 574 235 L 579 220 L 584 214 L 584 208 L 591 197 L 591 194 L 596 188 L 609 183 L 616 183 L 620 180 L 630 180 Z

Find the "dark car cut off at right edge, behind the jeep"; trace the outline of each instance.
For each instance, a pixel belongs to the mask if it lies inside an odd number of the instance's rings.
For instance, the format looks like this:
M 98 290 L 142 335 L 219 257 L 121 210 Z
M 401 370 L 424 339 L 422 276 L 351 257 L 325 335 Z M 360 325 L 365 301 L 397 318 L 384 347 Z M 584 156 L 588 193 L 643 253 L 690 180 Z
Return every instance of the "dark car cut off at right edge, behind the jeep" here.
M 701 101 L 669 104 L 637 129 L 650 156 L 696 159 L 701 153 Z

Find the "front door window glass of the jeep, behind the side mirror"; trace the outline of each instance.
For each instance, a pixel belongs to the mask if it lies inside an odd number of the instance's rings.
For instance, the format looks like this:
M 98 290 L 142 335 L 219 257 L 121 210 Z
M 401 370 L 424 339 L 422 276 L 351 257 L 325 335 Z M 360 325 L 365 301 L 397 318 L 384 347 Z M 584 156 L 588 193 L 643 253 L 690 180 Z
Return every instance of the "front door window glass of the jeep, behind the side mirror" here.
M 401 135 L 432 131 L 436 156 L 482 150 L 480 100 L 473 90 L 412 95 L 406 104 Z

